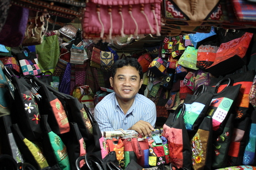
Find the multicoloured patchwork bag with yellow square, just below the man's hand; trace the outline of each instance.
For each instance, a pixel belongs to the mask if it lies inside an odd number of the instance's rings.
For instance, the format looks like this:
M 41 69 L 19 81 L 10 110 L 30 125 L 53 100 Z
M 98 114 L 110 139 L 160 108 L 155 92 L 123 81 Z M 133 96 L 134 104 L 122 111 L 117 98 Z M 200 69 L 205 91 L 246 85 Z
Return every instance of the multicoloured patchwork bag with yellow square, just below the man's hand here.
M 152 167 L 160 166 L 160 164 L 169 164 L 168 141 L 161 134 L 147 137 L 149 141 L 149 165 Z

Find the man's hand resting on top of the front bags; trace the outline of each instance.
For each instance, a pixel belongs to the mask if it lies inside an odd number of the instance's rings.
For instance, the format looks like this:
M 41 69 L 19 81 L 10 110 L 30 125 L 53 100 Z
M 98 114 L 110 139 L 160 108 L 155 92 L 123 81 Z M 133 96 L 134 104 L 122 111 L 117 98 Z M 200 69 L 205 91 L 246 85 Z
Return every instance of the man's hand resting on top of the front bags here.
M 149 122 L 142 120 L 136 122 L 130 129 L 141 133 L 142 136 L 151 136 L 151 131 L 154 131 L 154 127 Z

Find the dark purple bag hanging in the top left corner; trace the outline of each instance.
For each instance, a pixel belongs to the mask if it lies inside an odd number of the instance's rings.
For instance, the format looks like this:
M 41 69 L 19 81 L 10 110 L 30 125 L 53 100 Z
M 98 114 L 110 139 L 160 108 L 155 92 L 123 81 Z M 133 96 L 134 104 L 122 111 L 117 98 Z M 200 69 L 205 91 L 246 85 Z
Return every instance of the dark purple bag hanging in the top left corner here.
M 6 23 L 0 32 L 0 44 L 7 47 L 18 47 L 27 28 L 29 9 L 12 5 Z

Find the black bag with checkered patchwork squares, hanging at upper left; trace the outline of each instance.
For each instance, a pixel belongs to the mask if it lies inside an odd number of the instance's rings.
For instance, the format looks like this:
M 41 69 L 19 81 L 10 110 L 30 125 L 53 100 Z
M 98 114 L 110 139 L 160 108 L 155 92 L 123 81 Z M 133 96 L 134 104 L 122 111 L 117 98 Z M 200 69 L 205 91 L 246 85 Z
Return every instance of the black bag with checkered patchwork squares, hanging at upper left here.
M 36 52 L 31 52 L 28 48 L 23 47 L 21 53 L 17 53 L 17 60 L 23 75 L 38 75 L 41 73 Z

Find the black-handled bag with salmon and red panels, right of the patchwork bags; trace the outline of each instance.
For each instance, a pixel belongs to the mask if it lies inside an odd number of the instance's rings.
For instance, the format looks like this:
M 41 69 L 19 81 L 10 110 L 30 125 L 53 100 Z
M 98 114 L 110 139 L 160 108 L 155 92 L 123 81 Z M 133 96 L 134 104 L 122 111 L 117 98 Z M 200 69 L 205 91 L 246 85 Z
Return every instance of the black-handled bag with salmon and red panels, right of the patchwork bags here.
M 174 114 L 169 115 L 163 126 L 163 136 L 168 140 L 170 163 L 176 164 L 178 168 L 191 169 L 190 140 L 184 122 L 185 107 L 180 104 Z

